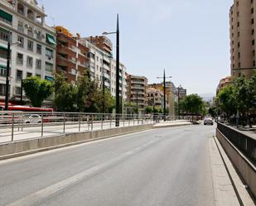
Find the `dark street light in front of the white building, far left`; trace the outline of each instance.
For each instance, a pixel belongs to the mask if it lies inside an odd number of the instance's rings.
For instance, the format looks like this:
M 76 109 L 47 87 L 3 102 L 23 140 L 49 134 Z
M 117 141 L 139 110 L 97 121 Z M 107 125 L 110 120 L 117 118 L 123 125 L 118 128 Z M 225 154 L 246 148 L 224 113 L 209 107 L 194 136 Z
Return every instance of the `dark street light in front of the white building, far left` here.
M 10 76 L 10 61 L 11 61 L 11 46 L 20 44 L 21 42 L 17 41 L 11 42 L 11 34 L 8 32 L 8 41 L 7 41 L 7 76 L 6 76 L 6 84 L 5 84 L 5 110 L 8 110 L 9 106 L 9 76 Z

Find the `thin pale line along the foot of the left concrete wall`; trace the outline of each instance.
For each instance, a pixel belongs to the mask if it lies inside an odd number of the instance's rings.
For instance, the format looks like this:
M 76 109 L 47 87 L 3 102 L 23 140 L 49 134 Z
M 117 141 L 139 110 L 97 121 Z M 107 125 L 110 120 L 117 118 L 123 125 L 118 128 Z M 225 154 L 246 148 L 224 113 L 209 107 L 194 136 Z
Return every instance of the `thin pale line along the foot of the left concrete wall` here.
M 51 151 L 41 151 L 41 152 L 38 152 L 38 153 L 35 153 L 35 154 L 31 154 L 31 155 L 27 155 L 27 156 L 19 156 L 19 157 L 12 158 L 12 159 L 9 159 L 9 160 L 0 160 L 0 165 L 4 165 L 4 164 L 7 164 L 7 163 L 15 162 L 15 161 L 18 161 L 18 160 L 26 160 L 26 159 L 29 159 L 29 158 L 32 158 L 32 157 L 36 157 L 36 156 L 45 156 L 47 154 L 51 154 L 51 153 L 55 153 L 55 152 L 59 152 L 59 151 L 68 151 L 68 150 L 72 150 L 75 147 L 79 147 L 79 146 L 96 144 L 96 143 L 101 142 L 101 141 L 109 141 L 109 140 L 117 139 L 117 138 L 120 138 L 120 137 L 129 137 L 129 136 L 140 134 L 142 132 L 150 132 L 150 131 L 153 131 L 153 130 L 154 129 L 150 129 L 150 130 L 134 132 L 134 133 L 125 134 L 125 135 L 119 135 L 117 137 L 109 137 L 109 138 L 95 140 L 95 141 L 88 141 L 88 142 L 85 142 L 85 143 L 82 143 L 82 144 L 78 144 L 78 145 L 74 145 L 74 146 L 65 146 L 65 147 L 61 147 L 61 148 L 54 149 L 54 150 L 51 150 Z

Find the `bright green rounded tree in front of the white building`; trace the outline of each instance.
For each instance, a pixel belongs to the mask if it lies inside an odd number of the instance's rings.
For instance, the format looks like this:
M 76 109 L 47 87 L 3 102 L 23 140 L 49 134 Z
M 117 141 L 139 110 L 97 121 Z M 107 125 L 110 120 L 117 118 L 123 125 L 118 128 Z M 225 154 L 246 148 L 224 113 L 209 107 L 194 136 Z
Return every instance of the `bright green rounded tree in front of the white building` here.
M 22 86 L 32 106 L 36 108 L 41 108 L 43 101 L 49 98 L 53 92 L 51 82 L 41 80 L 39 77 L 29 77 L 23 80 Z

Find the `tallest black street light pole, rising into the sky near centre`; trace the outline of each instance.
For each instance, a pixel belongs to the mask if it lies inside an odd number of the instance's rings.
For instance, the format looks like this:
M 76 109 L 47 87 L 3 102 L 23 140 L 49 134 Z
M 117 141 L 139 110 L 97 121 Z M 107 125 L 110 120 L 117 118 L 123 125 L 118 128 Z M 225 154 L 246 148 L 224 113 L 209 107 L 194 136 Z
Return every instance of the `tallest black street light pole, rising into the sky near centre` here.
M 119 113 L 120 113 L 120 97 L 119 97 L 119 20 L 118 20 L 118 16 L 117 16 L 117 31 L 114 32 L 104 32 L 103 35 L 110 35 L 110 34 L 116 34 L 117 36 L 117 41 L 116 41 L 116 95 L 115 95 L 115 99 L 116 99 L 116 103 L 115 103 L 115 110 L 116 110 L 116 119 L 115 119 L 115 126 L 119 127 Z

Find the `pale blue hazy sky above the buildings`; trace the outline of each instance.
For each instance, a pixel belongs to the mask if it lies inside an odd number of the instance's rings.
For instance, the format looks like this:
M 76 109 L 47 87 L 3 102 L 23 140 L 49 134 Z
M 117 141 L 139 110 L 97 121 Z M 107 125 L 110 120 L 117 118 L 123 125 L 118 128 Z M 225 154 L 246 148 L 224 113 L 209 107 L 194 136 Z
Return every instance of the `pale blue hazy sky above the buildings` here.
M 52 26 L 80 36 L 115 31 L 128 73 L 159 82 L 163 69 L 188 93 L 215 93 L 229 75 L 232 0 L 39 0 Z M 115 36 L 109 36 L 115 45 Z

